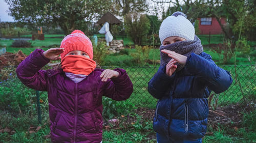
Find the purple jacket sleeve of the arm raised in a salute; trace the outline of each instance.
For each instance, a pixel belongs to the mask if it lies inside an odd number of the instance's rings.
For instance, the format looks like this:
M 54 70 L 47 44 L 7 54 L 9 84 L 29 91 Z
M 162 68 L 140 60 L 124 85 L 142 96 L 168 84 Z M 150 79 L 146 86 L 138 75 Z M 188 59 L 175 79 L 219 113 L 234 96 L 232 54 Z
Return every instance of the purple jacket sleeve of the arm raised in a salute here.
M 17 77 L 27 87 L 38 90 L 47 91 L 47 74 L 45 70 L 40 70 L 47 63 L 50 62 L 46 59 L 42 49 L 34 50 L 16 69 Z

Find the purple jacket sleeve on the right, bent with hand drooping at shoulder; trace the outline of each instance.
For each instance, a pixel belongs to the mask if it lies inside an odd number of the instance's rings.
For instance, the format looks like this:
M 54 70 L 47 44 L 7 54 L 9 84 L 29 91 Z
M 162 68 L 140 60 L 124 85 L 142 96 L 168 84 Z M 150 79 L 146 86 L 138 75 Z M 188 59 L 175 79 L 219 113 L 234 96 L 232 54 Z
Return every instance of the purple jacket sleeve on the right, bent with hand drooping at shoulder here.
M 106 82 L 104 95 L 117 101 L 128 99 L 133 93 L 133 83 L 125 70 L 115 69 L 115 71 L 119 72 L 119 76 Z

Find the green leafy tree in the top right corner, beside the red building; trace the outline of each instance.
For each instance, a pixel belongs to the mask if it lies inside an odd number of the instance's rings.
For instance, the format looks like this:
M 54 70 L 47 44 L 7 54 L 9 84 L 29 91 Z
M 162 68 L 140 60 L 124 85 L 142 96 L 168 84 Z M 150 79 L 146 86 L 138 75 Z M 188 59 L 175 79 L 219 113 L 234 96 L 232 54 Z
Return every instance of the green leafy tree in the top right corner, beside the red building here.
M 222 31 L 227 39 L 237 41 L 241 37 L 251 40 L 256 39 L 256 2 L 253 0 L 208 0 L 205 3 L 207 9 L 205 13 L 213 16 L 219 22 Z M 225 16 L 227 25 L 221 23 L 221 18 Z

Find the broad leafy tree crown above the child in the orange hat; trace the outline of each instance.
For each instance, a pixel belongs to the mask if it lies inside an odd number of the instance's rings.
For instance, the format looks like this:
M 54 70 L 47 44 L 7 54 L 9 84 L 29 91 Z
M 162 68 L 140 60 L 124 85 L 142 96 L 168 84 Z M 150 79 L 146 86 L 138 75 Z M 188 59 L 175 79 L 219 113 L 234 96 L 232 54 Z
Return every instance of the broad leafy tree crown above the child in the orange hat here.
M 111 1 L 101 0 L 5 0 L 9 15 L 29 25 L 59 25 L 65 34 L 109 11 Z

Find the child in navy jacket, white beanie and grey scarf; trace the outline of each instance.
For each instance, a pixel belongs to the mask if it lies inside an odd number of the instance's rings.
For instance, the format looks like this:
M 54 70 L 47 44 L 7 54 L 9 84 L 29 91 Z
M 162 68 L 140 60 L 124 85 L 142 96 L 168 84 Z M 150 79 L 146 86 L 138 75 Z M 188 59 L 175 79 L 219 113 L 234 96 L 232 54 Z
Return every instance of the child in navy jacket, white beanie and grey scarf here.
M 148 92 L 159 99 L 153 121 L 157 142 L 202 142 L 211 91 L 219 94 L 232 83 L 228 71 L 203 52 L 195 28 L 181 12 L 163 20 L 160 68 L 148 82 Z

